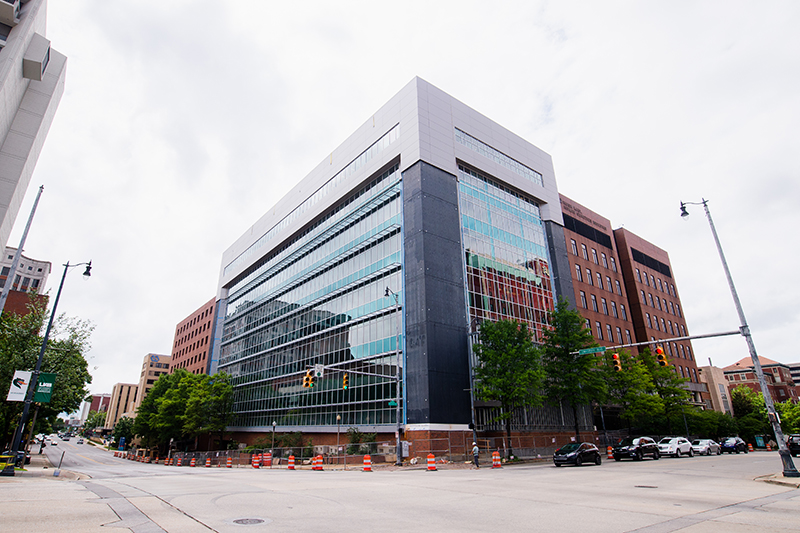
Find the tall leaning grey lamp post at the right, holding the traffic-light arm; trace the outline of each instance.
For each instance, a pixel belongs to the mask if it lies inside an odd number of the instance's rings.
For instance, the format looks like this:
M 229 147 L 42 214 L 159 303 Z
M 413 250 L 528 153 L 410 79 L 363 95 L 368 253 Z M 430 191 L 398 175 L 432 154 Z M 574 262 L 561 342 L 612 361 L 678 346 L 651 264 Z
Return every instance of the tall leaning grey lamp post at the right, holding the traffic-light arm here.
M 753 362 L 753 368 L 756 372 L 756 377 L 758 377 L 758 384 L 761 386 L 761 392 L 764 395 L 764 405 L 767 407 L 767 417 L 769 418 L 770 424 L 772 424 L 772 430 L 775 432 L 775 438 L 778 440 L 778 453 L 780 454 L 781 461 L 783 463 L 783 476 L 800 477 L 800 472 L 798 472 L 795 468 L 794 462 L 792 462 L 792 456 L 789 453 L 789 450 L 786 448 L 786 440 L 783 436 L 783 431 L 781 430 L 781 424 L 778 421 L 778 414 L 775 412 L 775 404 L 772 403 L 772 395 L 769 393 L 767 381 L 764 379 L 764 371 L 761 369 L 761 361 L 758 359 L 758 354 L 756 353 L 756 345 L 753 342 L 753 337 L 750 335 L 750 327 L 747 325 L 747 319 L 744 317 L 742 304 L 739 302 L 739 295 L 736 293 L 736 287 L 733 285 L 733 277 L 731 277 L 731 271 L 728 269 L 728 263 L 725 261 L 725 254 L 722 253 L 722 245 L 719 242 L 717 230 L 714 227 L 714 221 L 711 219 L 711 211 L 708 210 L 708 200 L 703 198 L 702 202 L 681 202 L 681 216 L 684 219 L 689 216 L 689 212 L 686 210 L 687 205 L 702 205 L 703 209 L 705 209 L 706 218 L 708 218 L 708 225 L 711 226 L 711 233 L 714 235 L 714 242 L 717 245 L 719 258 L 722 260 L 722 268 L 725 270 L 725 276 L 728 278 L 728 286 L 731 289 L 733 303 L 736 305 L 736 312 L 739 313 L 739 323 L 741 325 L 739 331 L 747 341 L 747 347 L 750 350 L 750 359 Z

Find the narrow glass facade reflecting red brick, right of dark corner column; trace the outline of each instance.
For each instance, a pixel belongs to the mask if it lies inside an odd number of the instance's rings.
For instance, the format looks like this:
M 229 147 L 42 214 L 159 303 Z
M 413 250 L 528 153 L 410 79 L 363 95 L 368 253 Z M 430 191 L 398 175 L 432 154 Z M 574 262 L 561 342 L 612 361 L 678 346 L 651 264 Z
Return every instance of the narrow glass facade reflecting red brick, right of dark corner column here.
M 539 338 L 553 289 L 538 204 L 463 166 L 458 178 L 470 319 L 525 322 Z

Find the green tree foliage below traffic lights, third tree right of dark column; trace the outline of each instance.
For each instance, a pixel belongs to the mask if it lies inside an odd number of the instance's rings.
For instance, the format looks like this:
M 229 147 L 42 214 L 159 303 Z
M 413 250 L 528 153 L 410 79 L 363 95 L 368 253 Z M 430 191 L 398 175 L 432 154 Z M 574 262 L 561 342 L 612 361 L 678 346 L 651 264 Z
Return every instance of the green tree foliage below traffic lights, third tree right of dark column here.
M 606 351 L 604 365 L 600 371 L 606 383 L 606 401 L 620 407 L 620 418 L 630 428 L 646 415 L 663 413 L 664 404 L 655 393 L 655 385 L 647 367 L 638 357 L 627 350 L 620 350 L 621 371 L 614 369 L 613 353 Z

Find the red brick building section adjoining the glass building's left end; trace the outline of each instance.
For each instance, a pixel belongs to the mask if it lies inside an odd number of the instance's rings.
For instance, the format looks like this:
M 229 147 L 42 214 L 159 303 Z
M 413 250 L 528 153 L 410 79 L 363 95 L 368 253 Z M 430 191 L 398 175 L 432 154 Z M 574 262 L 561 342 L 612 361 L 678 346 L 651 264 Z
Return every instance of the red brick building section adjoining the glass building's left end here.
M 214 329 L 212 298 L 175 327 L 170 372 L 183 368 L 192 374 L 207 374 Z

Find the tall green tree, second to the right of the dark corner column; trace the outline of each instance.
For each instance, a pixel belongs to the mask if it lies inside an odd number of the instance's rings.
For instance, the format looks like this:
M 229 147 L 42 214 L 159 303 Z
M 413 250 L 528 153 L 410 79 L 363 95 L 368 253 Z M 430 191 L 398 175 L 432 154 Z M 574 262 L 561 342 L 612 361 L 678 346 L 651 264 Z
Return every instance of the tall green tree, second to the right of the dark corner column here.
M 549 322 L 550 327 L 542 331 L 545 394 L 550 402 L 565 402 L 572 409 L 575 438 L 580 441 L 578 407 L 602 399 L 605 384 L 597 371 L 597 356 L 578 351 L 597 345 L 581 314 L 570 309 L 563 298 L 550 313 Z

